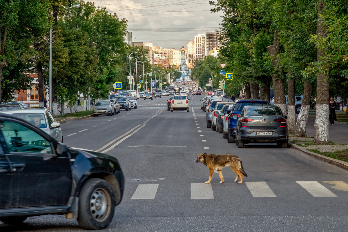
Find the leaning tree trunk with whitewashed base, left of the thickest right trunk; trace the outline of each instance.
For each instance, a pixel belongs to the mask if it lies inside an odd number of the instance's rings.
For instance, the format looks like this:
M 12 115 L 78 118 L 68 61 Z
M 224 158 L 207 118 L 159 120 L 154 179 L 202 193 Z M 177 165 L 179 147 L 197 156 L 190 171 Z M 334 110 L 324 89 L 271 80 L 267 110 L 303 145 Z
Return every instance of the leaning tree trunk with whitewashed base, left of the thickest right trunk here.
M 301 110 L 296 121 L 295 136 L 306 137 L 307 119 L 310 108 L 310 99 L 313 92 L 313 83 L 309 83 L 308 80 L 303 81 L 303 98 L 301 104 Z M 288 98 L 289 99 L 289 98 Z

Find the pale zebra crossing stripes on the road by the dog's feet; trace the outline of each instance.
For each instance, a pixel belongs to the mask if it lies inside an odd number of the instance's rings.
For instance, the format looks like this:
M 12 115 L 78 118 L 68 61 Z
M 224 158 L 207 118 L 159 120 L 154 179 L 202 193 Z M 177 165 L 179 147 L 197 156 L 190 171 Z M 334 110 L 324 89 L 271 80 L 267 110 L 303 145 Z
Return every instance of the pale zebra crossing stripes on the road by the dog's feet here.
M 276 198 L 277 195 L 271 190 L 265 181 L 244 182 L 253 198 Z M 337 197 L 332 191 L 317 181 L 295 181 L 297 186 L 305 189 L 313 197 Z M 323 181 L 329 183 L 332 189 L 348 191 L 348 184 L 343 181 Z M 131 199 L 155 199 L 160 184 L 139 184 Z M 205 183 L 191 183 L 191 199 L 214 199 L 213 185 Z M 215 195 L 219 195 L 216 192 Z

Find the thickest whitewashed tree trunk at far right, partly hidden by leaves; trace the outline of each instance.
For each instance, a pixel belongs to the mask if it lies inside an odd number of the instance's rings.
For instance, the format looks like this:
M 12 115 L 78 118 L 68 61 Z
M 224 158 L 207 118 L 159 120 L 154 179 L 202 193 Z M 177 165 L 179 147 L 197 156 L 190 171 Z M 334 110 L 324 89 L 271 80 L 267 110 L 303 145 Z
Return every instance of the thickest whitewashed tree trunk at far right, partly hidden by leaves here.
M 322 14 L 325 4 L 322 0 L 318 0 L 318 21 L 317 35 L 321 38 L 326 38 L 326 27 L 319 14 Z M 324 57 L 325 50 L 317 48 L 317 61 L 321 61 Z M 324 64 L 326 62 L 324 61 Z M 328 121 L 328 102 L 329 102 L 329 69 L 325 72 L 317 72 L 317 102 L 316 102 L 316 117 L 314 122 L 315 137 L 314 143 L 328 144 L 329 143 L 329 121 Z

